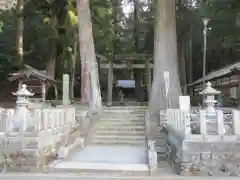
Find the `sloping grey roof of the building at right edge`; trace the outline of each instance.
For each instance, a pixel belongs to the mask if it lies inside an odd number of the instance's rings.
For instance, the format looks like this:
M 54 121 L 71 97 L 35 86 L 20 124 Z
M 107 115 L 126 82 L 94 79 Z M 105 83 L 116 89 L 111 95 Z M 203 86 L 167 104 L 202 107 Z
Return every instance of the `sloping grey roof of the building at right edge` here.
M 213 71 L 213 72 L 207 74 L 205 77 L 205 80 L 210 81 L 215 78 L 220 78 L 220 77 L 226 76 L 226 75 L 232 73 L 234 70 L 238 70 L 238 69 L 240 69 L 240 62 L 237 62 L 235 64 L 229 65 L 225 68 L 221 68 L 219 70 L 216 70 L 216 71 Z M 200 83 L 202 83 L 202 81 L 203 81 L 203 78 L 200 78 L 200 79 L 194 81 L 193 83 L 188 84 L 188 86 L 194 86 L 196 84 L 200 84 Z

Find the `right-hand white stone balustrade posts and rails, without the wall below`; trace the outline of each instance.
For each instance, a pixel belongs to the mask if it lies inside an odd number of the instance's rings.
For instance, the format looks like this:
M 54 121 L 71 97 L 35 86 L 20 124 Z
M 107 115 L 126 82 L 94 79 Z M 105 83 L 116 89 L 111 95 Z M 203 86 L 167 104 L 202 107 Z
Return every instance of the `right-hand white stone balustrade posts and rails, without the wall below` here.
M 240 139 L 240 111 L 232 110 L 230 114 L 224 114 L 217 110 L 216 120 L 208 121 L 208 114 L 200 110 L 198 115 L 191 115 L 190 111 L 180 109 L 168 109 L 166 111 L 166 128 L 181 134 L 185 140 L 217 140 L 228 139 L 235 141 Z M 211 131 L 209 131 L 211 127 Z

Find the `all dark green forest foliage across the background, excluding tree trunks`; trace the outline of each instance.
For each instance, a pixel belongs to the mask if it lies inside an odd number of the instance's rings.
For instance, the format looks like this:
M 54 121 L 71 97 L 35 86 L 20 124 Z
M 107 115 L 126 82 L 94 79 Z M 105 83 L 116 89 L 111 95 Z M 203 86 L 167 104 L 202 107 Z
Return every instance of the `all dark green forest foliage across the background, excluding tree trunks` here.
M 180 2 L 180 1 L 179 1 Z M 177 11 L 177 33 L 184 42 L 193 40 L 194 77 L 201 76 L 203 17 L 211 18 L 208 31 L 208 71 L 239 60 L 236 44 L 239 43 L 239 27 L 236 17 L 240 12 L 239 0 L 189 0 L 181 1 Z M 193 2 L 193 1 L 192 1 Z M 202 3 L 201 3 L 202 2 Z M 127 3 L 134 5 L 133 0 Z M 123 13 L 121 0 L 90 0 L 93 36 L 97 54 L 109 58 L 113 53 L 136 52 L 136 32 L 140 51 L 153 53 L 154 4 L 151 0 L 139 0 L 139 16 L 134 12 Z M 71 71 L 73 49 L 78 41 L 78 18 L 74 0 L 28 0 L 24 12 L 15 9 L 0 14 L 0 75 L 6 77 L 17 61 L 16 20 L 24 17 L 24 62 L 37 68 L 45 63 L 53 47 L 57 49 L 57 74 Z M 56 20 L 56 21 L 55 21 Z M 137 27 L 137 31 L 136 31 Z M 180 39 L 179 39 L 180 40 Z M 100 56 L 98 56 L 100 57 Z M 79 63 L 79 58 L 77 64 Z M 100 58 L 101 60 L 105 58 Z M 80 69 L 79 66 L 77 68 Z

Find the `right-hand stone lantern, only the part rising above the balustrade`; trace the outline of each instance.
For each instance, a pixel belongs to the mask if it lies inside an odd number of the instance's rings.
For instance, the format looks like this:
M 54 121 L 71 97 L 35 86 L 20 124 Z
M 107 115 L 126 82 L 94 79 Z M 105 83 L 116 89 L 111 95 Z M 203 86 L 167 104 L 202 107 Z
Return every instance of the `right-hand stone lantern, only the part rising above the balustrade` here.
M 210 82 L 207 83 L 207 87 L 200 92 L 200 95 L 203 95 L 205 104 L 205 110 L 207 114 L 215 114 L 215 108 L 214 105 L 217 103 L 217 100 L 215 100 L 215 95 L 220 94 L 220 91 L 217 91 L 216 89 L 212 88 L 212 84 Z

